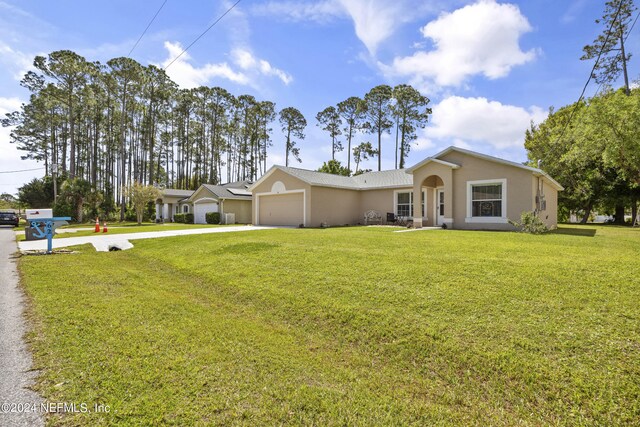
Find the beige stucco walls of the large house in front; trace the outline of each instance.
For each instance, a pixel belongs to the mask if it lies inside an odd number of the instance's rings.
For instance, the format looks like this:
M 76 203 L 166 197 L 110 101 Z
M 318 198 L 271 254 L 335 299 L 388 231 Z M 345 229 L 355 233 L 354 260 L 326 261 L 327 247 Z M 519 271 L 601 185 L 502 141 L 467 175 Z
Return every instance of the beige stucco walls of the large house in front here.
M 435 220 L 435 191 L 430 185 L 436 180 L 429 178 L 438 176 L 437 186 L 445 191 L 445 222 L 458 229 L 512 230 L 508 222 L 467 222 L 467 182 L 483 180 L 506 180 L 506 217 L 518 221 L 523 211 L 535 209 L 537 177 L 531 171 L 507 164 L 477 158 L 465 153 L 452 151 L 440 158 L 449 163 L 459 165 L 452 168 L 437 162 L 429 162 L 414 170 L 414 200 L 420 200 L 420 192 L 426 190 L 426 216 L 423 225 L 433 225 Z M 544 179 L 543 179 L 544 180 Z M 256 195 L 270 194 L 276 181 L 282 182 L 286 191 L 304 190 L 305 224 L 318 227 L 321 223 L 328 225 L 344 225 L 363 223 L 365 211 L 376 210 L 386 219 L 387 212 L 394 212 L 394 193 L 406 189 L 380 190 L 348 190 L 331 187 L 310 186 L 303 181 L 281 171 L 273 173 L 253 189 L 254 203 L 252 222 L 256 224 Z M 544 180 L 544 193 L 547 209 L 541 218 L 549 226 L 557 222 L 557 191 L 547 180 Z M 420 204 L 414 203 L 414 217 L 421 216 Z M 450 222 L 449 220 L 452 220 Z

